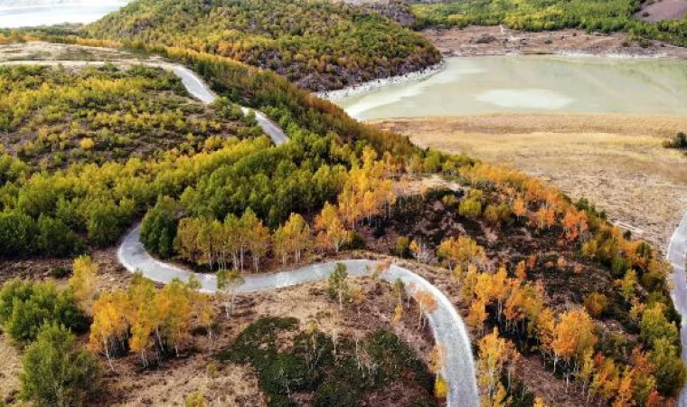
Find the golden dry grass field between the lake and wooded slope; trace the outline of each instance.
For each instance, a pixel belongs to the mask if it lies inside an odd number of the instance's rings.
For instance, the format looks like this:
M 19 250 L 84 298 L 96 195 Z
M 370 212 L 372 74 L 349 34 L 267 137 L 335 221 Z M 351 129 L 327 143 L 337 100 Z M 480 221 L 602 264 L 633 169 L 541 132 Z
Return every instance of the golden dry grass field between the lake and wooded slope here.
M 687 118 L 528 114 L 375 123 L 422 147 L 541 176 L 662 249 L 687 210 L 687 156 L 661 146 L 687 129 Z

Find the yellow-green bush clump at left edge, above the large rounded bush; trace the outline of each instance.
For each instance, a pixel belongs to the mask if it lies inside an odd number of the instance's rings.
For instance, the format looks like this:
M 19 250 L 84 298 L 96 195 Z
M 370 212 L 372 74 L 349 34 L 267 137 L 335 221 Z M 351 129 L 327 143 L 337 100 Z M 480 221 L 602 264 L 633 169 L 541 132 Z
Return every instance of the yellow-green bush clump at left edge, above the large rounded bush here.
M 0 324 L 16 344 L 33 341 L 45 324 L 83 331 L 87 322 L 71 290 L 53 282 L 13 279 L 0 290 Z

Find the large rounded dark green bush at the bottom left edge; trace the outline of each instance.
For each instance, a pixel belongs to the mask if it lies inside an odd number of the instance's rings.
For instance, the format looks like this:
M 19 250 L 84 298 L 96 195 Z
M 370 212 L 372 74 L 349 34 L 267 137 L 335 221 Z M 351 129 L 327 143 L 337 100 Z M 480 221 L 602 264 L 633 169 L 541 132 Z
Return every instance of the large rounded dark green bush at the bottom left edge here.
M 45 325 L 22 364 L 21 396 L 39 406 L 80 406 L 99 389 L 98 360 L 65 327 Z

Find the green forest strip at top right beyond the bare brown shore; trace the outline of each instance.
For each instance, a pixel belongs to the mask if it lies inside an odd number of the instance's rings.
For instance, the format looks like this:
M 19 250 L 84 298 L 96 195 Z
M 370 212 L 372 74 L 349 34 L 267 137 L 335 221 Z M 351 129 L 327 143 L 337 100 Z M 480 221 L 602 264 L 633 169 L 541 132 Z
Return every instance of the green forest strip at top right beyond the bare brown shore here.
M 580 28 L 612 33 L 626 31 L 638 38 L 687 45 L 687 18 L 645 23 L 635 18 L 637 0 L 466 0 L 413 5 L 416 28 L 470 24 L 496 25 L 526 31 Z

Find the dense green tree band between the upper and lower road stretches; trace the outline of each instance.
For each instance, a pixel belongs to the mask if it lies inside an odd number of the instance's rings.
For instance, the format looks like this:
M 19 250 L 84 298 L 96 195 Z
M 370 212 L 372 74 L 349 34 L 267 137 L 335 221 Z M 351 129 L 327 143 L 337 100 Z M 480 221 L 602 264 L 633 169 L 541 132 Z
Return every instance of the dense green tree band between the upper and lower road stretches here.
M 39 171 L 22 156 L 5 153 L 0 156 L 0 256 L 64 256 L 82 250 L 84 242 L 108 246 L 158 195 L 184 198 L 190 213 L 220 219 L 251 207 L 276 228 L 290 213 L 315 211 L 332 201 L 343 188 L 342 171 L 360 161 L 365 146 L 389 151 L 400 162 L 425 155 L 407 138 L 367 128 L 274 73 L 207 54 L 160 51 L 212 78 L 221 95 L 266 109 L 293 141 L 271 148 L 267 137 L 229 137 L 215 148 L 132 154 L 101 165 L 79 155 L 57 171 Z M 34 73 L 14 72 L 29 82 Z M 226 99 L 224 105 L 231 110 Z M 72 108 L 82 116 L 92 109 Z M 470 163 L 464 157 L 440 157 L 447 167 Z

